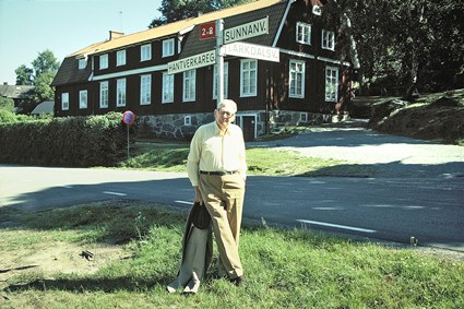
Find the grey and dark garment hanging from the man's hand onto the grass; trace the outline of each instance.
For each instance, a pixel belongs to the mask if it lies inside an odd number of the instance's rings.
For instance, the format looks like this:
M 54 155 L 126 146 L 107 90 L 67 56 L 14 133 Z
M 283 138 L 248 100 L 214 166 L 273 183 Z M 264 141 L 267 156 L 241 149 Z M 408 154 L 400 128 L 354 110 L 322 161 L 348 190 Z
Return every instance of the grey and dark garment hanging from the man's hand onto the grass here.
M 211 217 L 204 205 L 190 210 L 182 240 L 182 260 L 177 277 L 167 285 L 169 293 L 195 294 L 213 257 Z

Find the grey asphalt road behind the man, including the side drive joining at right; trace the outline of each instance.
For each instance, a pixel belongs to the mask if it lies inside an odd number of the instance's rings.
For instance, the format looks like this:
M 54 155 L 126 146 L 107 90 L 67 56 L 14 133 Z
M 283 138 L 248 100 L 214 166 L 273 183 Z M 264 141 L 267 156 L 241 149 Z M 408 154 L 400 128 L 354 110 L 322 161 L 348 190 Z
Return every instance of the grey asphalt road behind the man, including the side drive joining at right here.
M 402 243 L 415 237 L 423 246 L 464 252 L 464 147 L 346 127 L 252 145 L 345 158 L 371 165 L 374 175 L 251 176 L 245 218 Z M 3 207 L 39 210 L 128 199 L 188 210 L 192 198 L 186 174 L 0 166 Z M 0 218 L 0 227 L 7 225 Z

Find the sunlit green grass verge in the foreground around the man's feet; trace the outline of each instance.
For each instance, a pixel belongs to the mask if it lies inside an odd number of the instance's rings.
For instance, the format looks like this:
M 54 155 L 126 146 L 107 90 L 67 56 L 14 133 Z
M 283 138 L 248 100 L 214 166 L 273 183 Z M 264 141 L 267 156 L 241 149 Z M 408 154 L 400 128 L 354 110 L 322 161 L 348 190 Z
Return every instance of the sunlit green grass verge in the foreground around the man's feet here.
M 17 224 L 0 229 L 2 265 L 57 241 L 92 248 L 117 242 L 123 257 L 104 259 L 93 273 L 44 271 L 40 261 L 34 269 L 3 265 L 1 308 L 464 307 L 464 263 L 415 249 L 246 225 L 246 285 L 215 278 L 213 264 L 200 293 L 186 297 L 165 292 L 178 270 L 186 212 L 118 202 L 28 213 L 0 209 L 0 215 Z

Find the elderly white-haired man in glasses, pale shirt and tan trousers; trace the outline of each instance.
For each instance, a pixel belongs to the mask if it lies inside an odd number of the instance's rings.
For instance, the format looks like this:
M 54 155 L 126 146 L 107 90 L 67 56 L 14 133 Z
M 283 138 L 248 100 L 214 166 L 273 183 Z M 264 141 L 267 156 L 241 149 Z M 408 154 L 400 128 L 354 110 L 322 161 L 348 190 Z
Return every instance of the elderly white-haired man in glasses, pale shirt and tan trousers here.
M 190 144 L 187 168 L 195 190 L 194 201 L 211 215 L 219 252 L 219 275 L 235 285 L 243 282 L 238 254 L 247 163 L 243 133 L 231 123 L 237 104 L 222 100 L 214 110 L 215 121 L 201 126 Z

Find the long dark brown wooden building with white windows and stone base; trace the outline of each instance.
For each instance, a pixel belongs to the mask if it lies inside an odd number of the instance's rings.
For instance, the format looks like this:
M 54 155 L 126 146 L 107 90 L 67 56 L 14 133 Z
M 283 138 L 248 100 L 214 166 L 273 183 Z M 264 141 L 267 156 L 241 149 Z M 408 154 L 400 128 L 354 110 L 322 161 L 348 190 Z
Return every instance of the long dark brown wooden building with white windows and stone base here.
M 354 48 L 343 12 L 321 2 L 259 0 L 134 34 L 110 32 L 62 61 L 52 83 L 55 115 L 132 110 L 143 134 L 189 139 L 213 119 L 216 66 L 177 73 L 168 66 L 214 50 L 216 39 L 202 38 L 201 25 L 223 20 L 229 40 L 236 36 L 279 54 L 279 62 L 224 57 L 224 94 L 238 104 L 236 122 L 246 140 L 275 126 L 345 117 Z M 259 29 L 243 26 L 260 21 Z

